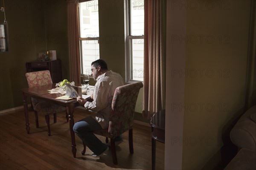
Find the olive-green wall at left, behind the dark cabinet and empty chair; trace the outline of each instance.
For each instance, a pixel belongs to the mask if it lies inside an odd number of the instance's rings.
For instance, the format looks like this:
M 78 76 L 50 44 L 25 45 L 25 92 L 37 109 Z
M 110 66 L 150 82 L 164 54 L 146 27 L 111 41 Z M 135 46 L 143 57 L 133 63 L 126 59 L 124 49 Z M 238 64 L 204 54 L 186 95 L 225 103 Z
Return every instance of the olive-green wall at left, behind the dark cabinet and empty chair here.
M 56 50 L 68 77 L 67 4 L 64 0 L 5 1 L 10 52 L 0 54 L 0 111 L 23 105 L 20 88 L 28 87 L 26 62 L 38 51 Z M 4 21 L 1 12 L 0 22 Z M 46 21 L 46 24 L 45 24 Z M 47 38 L 46 38 L 47 34 Z

